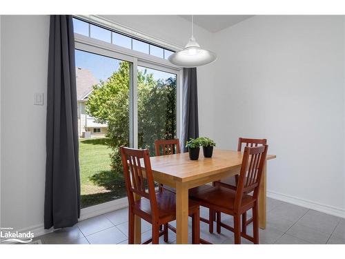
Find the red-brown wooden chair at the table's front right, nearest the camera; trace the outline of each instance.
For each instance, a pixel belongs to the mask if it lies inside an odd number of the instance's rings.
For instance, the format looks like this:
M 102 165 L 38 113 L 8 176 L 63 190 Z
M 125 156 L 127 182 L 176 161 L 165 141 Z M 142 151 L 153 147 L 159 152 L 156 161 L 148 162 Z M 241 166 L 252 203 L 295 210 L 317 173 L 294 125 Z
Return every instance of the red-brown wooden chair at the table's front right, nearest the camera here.
M 203 207 L 233 215 L 234 227 L 217 221 L 217 229 L 224 227 L 235 233 L 235 244 L 241 243 L 241 236 L 259 243 L 259 221 L 258 221 L 258 195 L 259 184 L 262 178 L 262 171 L 266 160 L 268 146 L 256 146 L 244 148 L 241 171 L 239 173 L 236 191 L 227 187 L 216 185 L 211 189 L 199 189 L 190 198 L 196 200 Z M 252 193 L 249 195 L 248 193 Z M 249 209 L 253 209 L 253 237 L 241 231 L 241 215 Z

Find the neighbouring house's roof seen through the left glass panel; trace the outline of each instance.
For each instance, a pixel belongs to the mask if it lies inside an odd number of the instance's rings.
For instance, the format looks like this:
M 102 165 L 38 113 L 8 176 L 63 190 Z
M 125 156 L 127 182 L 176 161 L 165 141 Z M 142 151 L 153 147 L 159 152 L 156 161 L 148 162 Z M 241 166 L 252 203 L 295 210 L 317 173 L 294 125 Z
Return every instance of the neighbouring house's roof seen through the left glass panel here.
M 77 75 L 77 99 L 81 101 L 86 99 L 92 91 L 92 86 L 98 84 L 99 81 L 87 68 L 75 68 L 75 73 Z

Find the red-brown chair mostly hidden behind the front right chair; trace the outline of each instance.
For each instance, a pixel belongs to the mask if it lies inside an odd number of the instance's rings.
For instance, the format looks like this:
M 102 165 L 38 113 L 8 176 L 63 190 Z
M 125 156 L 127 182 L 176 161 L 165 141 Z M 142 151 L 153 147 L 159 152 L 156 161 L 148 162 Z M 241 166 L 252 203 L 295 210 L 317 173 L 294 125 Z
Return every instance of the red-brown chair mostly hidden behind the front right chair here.
M 242 151 L 243 146 L 253 147 L 253 146 L 262 146 L 262 145 L 266 145 L 266 144 L 267 144 L 266 139 L 249 139 L 249 138 L 239 137 L 238 145 L 237 145 L 237 151 Z M 236 190 L 238 180 L 239 180 L 239 175 L 234 175 L 230 178 L 226 178 L 226 179 L 222 179 L 222 180 L 217 181 L 217 182 L 213 182 L 213 185 L 224 186 L 226 188 Z M 217 216 L 215 216 L 215 213 L 213 212 L 211 217 L 213 217 L 213 220 L 216 220 L 217 222 L 221 221 L 221 213 L 217 213 Z M 253 222 L 253 218 L 250 218 L 249 220 L 247 220 L 247 215 L 246 215 L 246 213 L 244 213 L 242 215 L 242 231 L 244 231 L 244 233 L 246 233 L 246 227 L 251 222 Z M 217 226 L 219 226 L 219 223 L 217 223 Z M 217 227 L 217 233 L 221 233 L 221 229 L 219 227 Z

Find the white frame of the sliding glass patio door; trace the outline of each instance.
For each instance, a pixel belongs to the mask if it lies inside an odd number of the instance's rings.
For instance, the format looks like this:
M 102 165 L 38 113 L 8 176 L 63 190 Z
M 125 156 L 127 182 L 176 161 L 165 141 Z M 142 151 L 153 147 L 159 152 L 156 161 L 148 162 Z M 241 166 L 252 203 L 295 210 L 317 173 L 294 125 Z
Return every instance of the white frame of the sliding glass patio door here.
M 91 52 L 96 55 L 112 57 L 123 61 L 128 61 L 130 66 L 130 146 L 137 148 L 138 146 L 138 97 L 137 97 L 137 67 L 146 66 L 148 68 L 161 70 L 177 75 L 177 96 L 176 96 L 176 135 L 181 139 L 182 129 L 182 98 L 183 98 L 183 68 L 171 64 L 166 59 L 161 59 L 152 55 L 144 54 L 135 50 L 130 50 L 115 44 L 109 44 L 105 41 L 92 39 L 84 35 L 75 33 L 75 49 Z M 94 217 L 115 209 L 121 209 L 128 206 L 128 199 L 120 198 L 110 202 L 104 202 L 92 207 L 81 209 L 81 218 L 84 220 Z

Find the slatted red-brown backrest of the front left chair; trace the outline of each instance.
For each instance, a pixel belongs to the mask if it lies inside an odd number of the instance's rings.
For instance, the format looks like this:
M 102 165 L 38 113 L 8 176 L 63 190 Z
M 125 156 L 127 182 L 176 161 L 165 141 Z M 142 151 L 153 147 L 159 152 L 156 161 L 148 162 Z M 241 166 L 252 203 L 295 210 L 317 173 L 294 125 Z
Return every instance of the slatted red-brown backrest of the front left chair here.
M 124 178 L 130 207 L 135 204 L 135 195 L 150 200 L 152 216 L 158 215 L 153 181 L 150 153 L 148 149 L 135 149 L 120 147 Z M 144 165 L 144 171 L 141 166 Z

